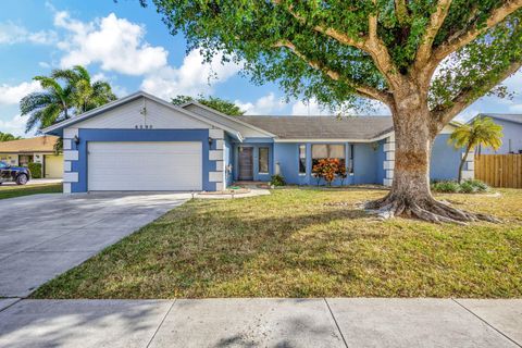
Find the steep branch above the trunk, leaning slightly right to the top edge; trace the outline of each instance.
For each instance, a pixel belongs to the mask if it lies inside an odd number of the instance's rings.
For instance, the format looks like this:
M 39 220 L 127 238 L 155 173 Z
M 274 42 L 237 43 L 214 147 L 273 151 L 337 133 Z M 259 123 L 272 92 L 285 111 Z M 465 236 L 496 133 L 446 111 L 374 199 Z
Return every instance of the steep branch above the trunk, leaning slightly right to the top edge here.
M 421 45 L 417 51 L 417 58 L 414 62 L 415 67 L 422 67 L 430 59 L 430 55 L 432 54 L 433 41 L 435 40 L 438 30 L 440 30 L 440 27 L 443 26 L 444 21 L 449 13 L 451 1 L 452 0 L 439 0 L 437 3 L 437 9 L 430 16 L 430 23 L 426 27 L 426 32 L 421 39 Z

